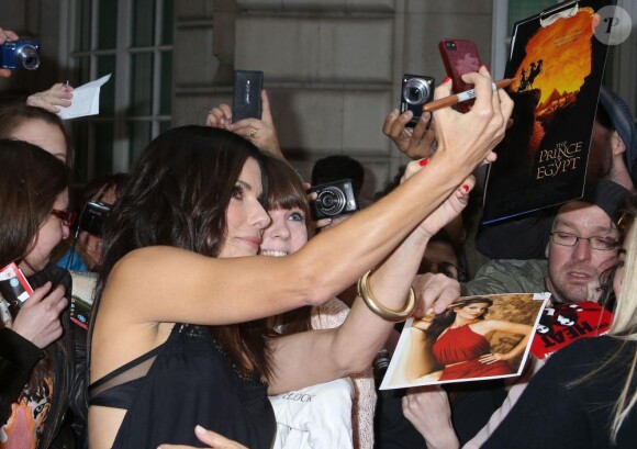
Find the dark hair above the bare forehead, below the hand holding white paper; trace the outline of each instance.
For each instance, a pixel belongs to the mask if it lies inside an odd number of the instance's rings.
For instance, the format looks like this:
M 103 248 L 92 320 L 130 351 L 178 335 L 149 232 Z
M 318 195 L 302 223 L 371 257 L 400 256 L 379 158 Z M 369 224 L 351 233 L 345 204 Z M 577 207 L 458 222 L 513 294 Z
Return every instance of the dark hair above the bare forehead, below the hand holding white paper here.
M 53 112 L 22 102 L 2 106 L 0 108 L 0 138 L 11 138 L 15 130 L 30 120 L 41 120 L 59 128 L 66 142 L 66 165 L 72 168 L 74 150 L 70 137 L 59 115 Z

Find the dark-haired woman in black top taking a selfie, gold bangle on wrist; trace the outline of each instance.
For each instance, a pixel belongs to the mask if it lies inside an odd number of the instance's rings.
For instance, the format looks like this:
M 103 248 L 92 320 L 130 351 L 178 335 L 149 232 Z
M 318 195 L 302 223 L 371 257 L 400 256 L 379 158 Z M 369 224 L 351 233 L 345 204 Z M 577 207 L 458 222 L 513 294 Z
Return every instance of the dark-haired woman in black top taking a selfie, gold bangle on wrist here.
M 252 143 L 204 126 L 153 141 L 105 226 L 90 336 L 91 446 L 194 445 L 199 423 L 269 448 L 266 393 L 365 369 L 392 328 L 384 318 L 404 318 L 415 303 L 411 280 L 428 237 L 461 207 L 468 177 L 502 137 L 509 98 L 492 92 L 485 69 L 467 77 L 479 101 L 468 114 L 438 115 L 436 157 L 411 166 L 410 175 L 426 175 L 284 258 L 254 257 L 270 218 Z M 264 319 L 320 305 L 361 274 L 362 300 L 337 329 L 276 336 Z

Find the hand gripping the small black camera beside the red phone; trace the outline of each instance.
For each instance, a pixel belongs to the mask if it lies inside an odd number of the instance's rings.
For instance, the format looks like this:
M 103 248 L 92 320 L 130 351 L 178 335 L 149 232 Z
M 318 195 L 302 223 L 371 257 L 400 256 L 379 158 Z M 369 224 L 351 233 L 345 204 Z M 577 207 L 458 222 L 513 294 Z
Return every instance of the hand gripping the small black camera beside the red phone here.
M 409 127 L 406 124 L 413 117 L 412 111 L 399 114 L 398 109 L 391 111 L 382 124 L 382 133 L 391 138 L 402 153 L 412 159 L 428 157 L 434 153 L 436 132 L 429 112 L 423 112 L 416 126 Z

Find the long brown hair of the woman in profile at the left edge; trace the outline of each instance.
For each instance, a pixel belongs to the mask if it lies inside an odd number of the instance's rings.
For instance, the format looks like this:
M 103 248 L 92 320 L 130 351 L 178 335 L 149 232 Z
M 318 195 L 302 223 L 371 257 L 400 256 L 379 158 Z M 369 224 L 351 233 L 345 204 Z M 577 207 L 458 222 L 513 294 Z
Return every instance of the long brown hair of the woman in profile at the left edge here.
M 55 156 L 22 141 L 0 139 L 0 267 L 32 249 L 40 225 L 68 187 L 68 170 Z

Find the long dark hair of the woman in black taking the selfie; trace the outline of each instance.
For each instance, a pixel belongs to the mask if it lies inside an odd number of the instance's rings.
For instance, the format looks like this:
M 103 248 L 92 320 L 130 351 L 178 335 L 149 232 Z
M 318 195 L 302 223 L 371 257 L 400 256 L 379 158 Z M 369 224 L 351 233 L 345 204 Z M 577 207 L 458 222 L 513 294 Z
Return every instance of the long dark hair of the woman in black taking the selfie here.
M 208 126 L 176 127 L 150 142 L 104 223 L 93 321 L 112 268 L 132 250 L 166 245 L 219 256 L 227 232 L 226 210 L 248 158 L 261 164 L 250 142 Z M 211 330 L 236 367 L 247 371 L 246 356 L 258 371 L 271 373 L 265 319 Z

